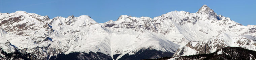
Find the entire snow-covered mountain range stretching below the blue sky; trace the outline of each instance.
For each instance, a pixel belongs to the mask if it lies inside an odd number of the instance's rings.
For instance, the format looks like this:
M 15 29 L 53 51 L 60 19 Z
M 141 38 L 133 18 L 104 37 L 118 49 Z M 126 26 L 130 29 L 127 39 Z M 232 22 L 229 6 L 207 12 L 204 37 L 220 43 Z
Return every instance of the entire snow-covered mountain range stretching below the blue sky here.
M 196 13 L 154 18 L 121 15 L 97 23 L 90 16 L 0 13 L 0 59 L 152 59 L 213 53 L 223 47 L 256 50 L 256 25 L 244 26 L 203 5 Z M 8 55 L 17 53 L 16 55 Z M 17 55 L 25 57 L 15 57 Z M 19 56 L 20 56 L 19 55 Z

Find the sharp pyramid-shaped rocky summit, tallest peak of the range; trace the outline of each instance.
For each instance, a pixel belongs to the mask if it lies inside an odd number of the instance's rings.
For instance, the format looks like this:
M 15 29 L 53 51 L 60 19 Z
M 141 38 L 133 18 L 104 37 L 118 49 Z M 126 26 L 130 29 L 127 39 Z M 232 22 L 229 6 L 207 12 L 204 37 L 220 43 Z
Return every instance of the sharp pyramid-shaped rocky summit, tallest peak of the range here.
M 211 9 L 211 8 L 208 7 L 207 5 L 203 5 L 196 13 L 198 13 L 198 14 L 210 14 L 210 15 L 214 15 L 214 16 L 217 15 L 217 14 L 213 11 L 213 9 Z

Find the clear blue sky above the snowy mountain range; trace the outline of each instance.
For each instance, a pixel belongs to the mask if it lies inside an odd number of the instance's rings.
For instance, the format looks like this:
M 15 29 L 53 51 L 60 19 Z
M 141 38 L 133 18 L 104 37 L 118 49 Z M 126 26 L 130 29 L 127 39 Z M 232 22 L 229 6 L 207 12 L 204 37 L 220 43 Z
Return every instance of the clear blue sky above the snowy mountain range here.
M 238 23 L 256 25 L 256 0 L 0 0 L 0 12 L 22 10 L 50 18 L 89 15 L 103 23 L 120 15 L 153 18 L 175 10 L 195 13 L 204 4 Z

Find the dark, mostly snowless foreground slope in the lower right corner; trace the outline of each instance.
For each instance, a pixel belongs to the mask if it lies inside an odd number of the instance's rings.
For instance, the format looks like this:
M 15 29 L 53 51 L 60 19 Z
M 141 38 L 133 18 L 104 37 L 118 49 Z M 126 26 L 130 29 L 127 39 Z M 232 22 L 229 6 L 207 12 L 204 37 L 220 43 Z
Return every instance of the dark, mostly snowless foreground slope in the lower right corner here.
M 210 54 L 198 54 L 180 57 L 163 57 L 145 60 L 255 60 L 256 51 L 242 47 L 224 47 Z

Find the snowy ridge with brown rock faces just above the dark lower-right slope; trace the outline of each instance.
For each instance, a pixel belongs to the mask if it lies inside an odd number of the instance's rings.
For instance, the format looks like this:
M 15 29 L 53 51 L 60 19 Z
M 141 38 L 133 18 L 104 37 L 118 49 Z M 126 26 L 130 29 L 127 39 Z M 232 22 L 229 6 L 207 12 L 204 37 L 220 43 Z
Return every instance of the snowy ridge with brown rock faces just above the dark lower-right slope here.
M 256 50 L 256 37 L 251 35 L 230 36 L 225 33 L 217 37 L 200 41 L 189 42 L 186 46 L 181 47 L 173 56 L 186 56 L 204 53 L 213 53 L 224 47 L 243 47 L 249 50 Z

